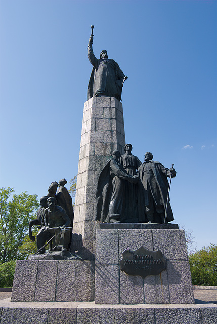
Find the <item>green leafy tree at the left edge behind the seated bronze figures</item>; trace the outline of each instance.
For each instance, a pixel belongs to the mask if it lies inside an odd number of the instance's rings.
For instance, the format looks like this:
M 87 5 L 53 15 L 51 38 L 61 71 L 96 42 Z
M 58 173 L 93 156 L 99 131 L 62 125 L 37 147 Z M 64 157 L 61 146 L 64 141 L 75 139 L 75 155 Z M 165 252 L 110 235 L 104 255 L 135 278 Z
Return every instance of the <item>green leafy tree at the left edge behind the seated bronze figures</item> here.
M 0 263 L 22 259 L 19 247 L 28 232 L 28 221 L 36 218 L 39 207 L 36 194 L 13 192 L 14 188 L 0 188 Z

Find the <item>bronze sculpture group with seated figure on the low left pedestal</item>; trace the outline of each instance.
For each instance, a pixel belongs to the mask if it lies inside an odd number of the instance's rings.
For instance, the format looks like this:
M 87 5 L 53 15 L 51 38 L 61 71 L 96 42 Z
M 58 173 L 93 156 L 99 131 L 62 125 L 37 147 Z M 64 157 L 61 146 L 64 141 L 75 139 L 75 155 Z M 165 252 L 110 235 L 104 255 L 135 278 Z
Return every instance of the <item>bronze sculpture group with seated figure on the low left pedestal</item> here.
M 72 198 L 64 187 L 66 183 L 66 179 L 51 183 L 47 196 L 40 198 L 37 219 L 29 222 L 29 237 L 33 241 L 32 225 L 40 225 L 36 236 L 37 254 L 44 254 L 48 243 L 49 251 L 64 252 L 70 248 L 74 212 Z

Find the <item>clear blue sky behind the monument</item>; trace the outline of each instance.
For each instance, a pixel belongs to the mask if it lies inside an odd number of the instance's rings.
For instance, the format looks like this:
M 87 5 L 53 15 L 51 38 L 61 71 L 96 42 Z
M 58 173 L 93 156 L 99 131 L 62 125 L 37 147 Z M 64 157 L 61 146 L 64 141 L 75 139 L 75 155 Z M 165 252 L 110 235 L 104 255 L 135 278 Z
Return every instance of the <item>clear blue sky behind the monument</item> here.
M 175 221 L 197 249 L 216 244 L 217 2 L 0 1 L 0 186 L 43 196 L 77 174 L 92 66 L 107 49 L 128 80 L 125 137 L 175 164 Z M 69 187 L 69 186 L 68 186 Z

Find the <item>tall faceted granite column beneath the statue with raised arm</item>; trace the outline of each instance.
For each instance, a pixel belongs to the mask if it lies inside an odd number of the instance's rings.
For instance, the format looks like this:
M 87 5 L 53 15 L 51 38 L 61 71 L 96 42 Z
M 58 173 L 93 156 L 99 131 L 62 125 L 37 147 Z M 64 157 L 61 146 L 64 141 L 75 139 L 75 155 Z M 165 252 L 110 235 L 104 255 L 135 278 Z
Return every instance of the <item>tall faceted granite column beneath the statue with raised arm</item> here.
M 99 174 L 113 150 L 124 153 L 122 103 L 93 97 L 84 103 L 71 249 L 88 260 L 95 258 L 99 221 L 93 221 Z

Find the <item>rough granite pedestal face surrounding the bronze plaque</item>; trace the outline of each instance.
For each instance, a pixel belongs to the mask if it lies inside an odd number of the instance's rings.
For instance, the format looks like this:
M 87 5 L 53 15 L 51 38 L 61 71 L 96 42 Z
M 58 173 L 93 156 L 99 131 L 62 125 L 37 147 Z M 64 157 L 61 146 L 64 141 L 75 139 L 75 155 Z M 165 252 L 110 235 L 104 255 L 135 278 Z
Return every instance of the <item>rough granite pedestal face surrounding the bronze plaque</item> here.
M 167 259 L 166 270 L 159 275 L 150 275 L 144 279 L 120 271 L 118 264 L 122 252 L 125 249 L 137 250 L 141 246 L 152 251 L 157 249 L 164 251 L 164 257 Z M 95 303 L 194 303 L 184 231 L 97 229 Z

